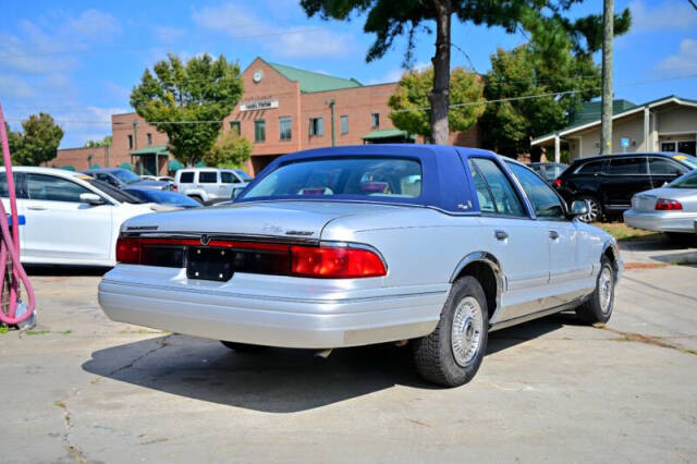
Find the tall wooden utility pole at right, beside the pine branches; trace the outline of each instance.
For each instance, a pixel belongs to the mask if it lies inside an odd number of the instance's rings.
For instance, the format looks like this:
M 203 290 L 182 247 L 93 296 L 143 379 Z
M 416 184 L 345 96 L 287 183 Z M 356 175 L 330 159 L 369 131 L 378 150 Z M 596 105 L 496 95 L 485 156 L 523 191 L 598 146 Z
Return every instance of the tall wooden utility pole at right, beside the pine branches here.
M 600 115 L 600 154 L 612 152 L 612 38 L 614 0 L 603 0 L 602 9 L 602 112 Z

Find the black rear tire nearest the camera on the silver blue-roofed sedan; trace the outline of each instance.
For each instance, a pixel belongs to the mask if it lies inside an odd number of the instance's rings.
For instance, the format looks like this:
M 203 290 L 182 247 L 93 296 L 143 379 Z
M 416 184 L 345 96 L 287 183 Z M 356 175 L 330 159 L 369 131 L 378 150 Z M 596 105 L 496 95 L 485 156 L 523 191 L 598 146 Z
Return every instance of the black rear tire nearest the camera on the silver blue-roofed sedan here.
M 475 305 L 474 302 L 477 304 Z M 462 314 L 468 309 L 473 310 L 469 319 L 463 319 Z M 461 309 L 458 309 L 461 308 Z M 476 351 L 468 355 L 460 352 L 455 355 L 456 349 L 453 343 L 453 320 L 455 314 L 460 314 L 463 329 L 461 345 L 466 345 L 468 338 L 478 334 L 469 346 Z M 478 317 L 478 323 L 475 319 Z M 472 331 L 470 331 L 472 328 Z M 479 330 L 477 330 L 479 328 Z M 413 343 L 414 362 L 419 375 L 433 383 L 445 387 L 457 387 L 467 383 L 475 377 L 481 359 L 487 351 L 487 340 L 489 335 L 489 313 L 487 309 L 487 298 L 481 284 L 474 277 L 466 276 L 457 279 L 450 290 L 450 295 L 443 305 L 440 314 L 440 321 L 436 330 L 427 337 L 416 339 Z

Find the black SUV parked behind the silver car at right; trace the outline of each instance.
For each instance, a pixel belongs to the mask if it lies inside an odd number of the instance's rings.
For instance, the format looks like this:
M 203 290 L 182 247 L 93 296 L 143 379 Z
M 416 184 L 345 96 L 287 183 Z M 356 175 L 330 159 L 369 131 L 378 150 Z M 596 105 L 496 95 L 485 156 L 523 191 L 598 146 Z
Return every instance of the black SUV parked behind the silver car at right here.
M 588 215 L 582 219 L 592 222 L 603 216 L 621 217 L 631 208 L 635 193 L 660 187 L 693 169 L 697 169 L 697 158 L 676 152 L 579 158 L 554 180 L 554 187 L 568 204 L 587 200 Z

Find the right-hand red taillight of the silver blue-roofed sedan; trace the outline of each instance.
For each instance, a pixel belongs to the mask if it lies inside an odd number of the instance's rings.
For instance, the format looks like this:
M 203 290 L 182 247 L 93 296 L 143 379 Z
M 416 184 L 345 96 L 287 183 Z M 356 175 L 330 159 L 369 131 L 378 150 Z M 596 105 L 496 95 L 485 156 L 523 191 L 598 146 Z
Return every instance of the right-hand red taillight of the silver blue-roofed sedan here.
M 294 276 L 346 279 L 387 273 L 382 259 L 369 249 L 292 246 L 291 256 Z

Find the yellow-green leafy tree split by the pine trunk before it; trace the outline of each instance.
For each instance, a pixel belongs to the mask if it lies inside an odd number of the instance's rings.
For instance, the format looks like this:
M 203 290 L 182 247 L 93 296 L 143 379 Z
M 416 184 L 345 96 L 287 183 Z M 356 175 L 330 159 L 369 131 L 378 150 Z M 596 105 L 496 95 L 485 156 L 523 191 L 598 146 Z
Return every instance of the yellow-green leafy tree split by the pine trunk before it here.
M 448 113 L 449 125 L 453 131 L 467 131 L 477 123 L 484 113 L 484 84 L 474 73 L 464 68 L 455 68 L 450 73 L 450 93 L 455 101 L 475 105 L 451 108 Z M 390 119 L 394 125 L 409 134 L 431 138 L 430 114 L 424 111 L 428 107 L 428 94 L 433 87 L 433 68 L 404 73 L 396 91 L 388 100 L 392 108 Z M 477 105 L 479 103 L 479 105 Z

